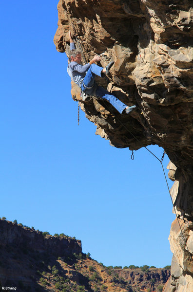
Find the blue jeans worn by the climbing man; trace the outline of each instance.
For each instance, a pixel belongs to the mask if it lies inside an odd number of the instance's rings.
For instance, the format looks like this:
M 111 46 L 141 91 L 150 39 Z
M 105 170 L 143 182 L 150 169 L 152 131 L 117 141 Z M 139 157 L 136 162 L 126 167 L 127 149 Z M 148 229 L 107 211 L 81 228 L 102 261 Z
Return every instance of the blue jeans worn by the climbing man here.
M 94 85 L 95 85 L 95 76 L 104 77 L 105 74 L 102 73 L 103 68 L 97 66 L 96 64 L 92 64 L 87 71 L 84 80 L 81 84 L 81 90 L 84 91 L 86 94 L 93 95 L 94 92 Z M 93 87 L 94 86 L 94 87 Z M 93 87 L 93 88 L 89 88 Z M 103 87 L 97 85 L 97 90 L 95 93 L 96 96 L 100 97 L 101 99 L 107 100 L 116 110 L 122 113 L 123 110 L 127 107 L 124 103 L 122 103 L 115 95 L 111 92 L 107 91 Z

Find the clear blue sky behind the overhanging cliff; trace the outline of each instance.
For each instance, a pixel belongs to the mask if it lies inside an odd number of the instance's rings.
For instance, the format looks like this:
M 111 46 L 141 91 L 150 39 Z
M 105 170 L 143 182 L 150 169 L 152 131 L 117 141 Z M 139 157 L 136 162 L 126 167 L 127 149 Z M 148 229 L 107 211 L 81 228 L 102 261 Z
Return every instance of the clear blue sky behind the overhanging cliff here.
M 57 3 L 0 2 L 0 217 L 75 236 L 105 265 L 170 265 L 161 164 L 144 148 L 131 160 L 83 112 L 77 126 L 67 57 L 53 43 Z

